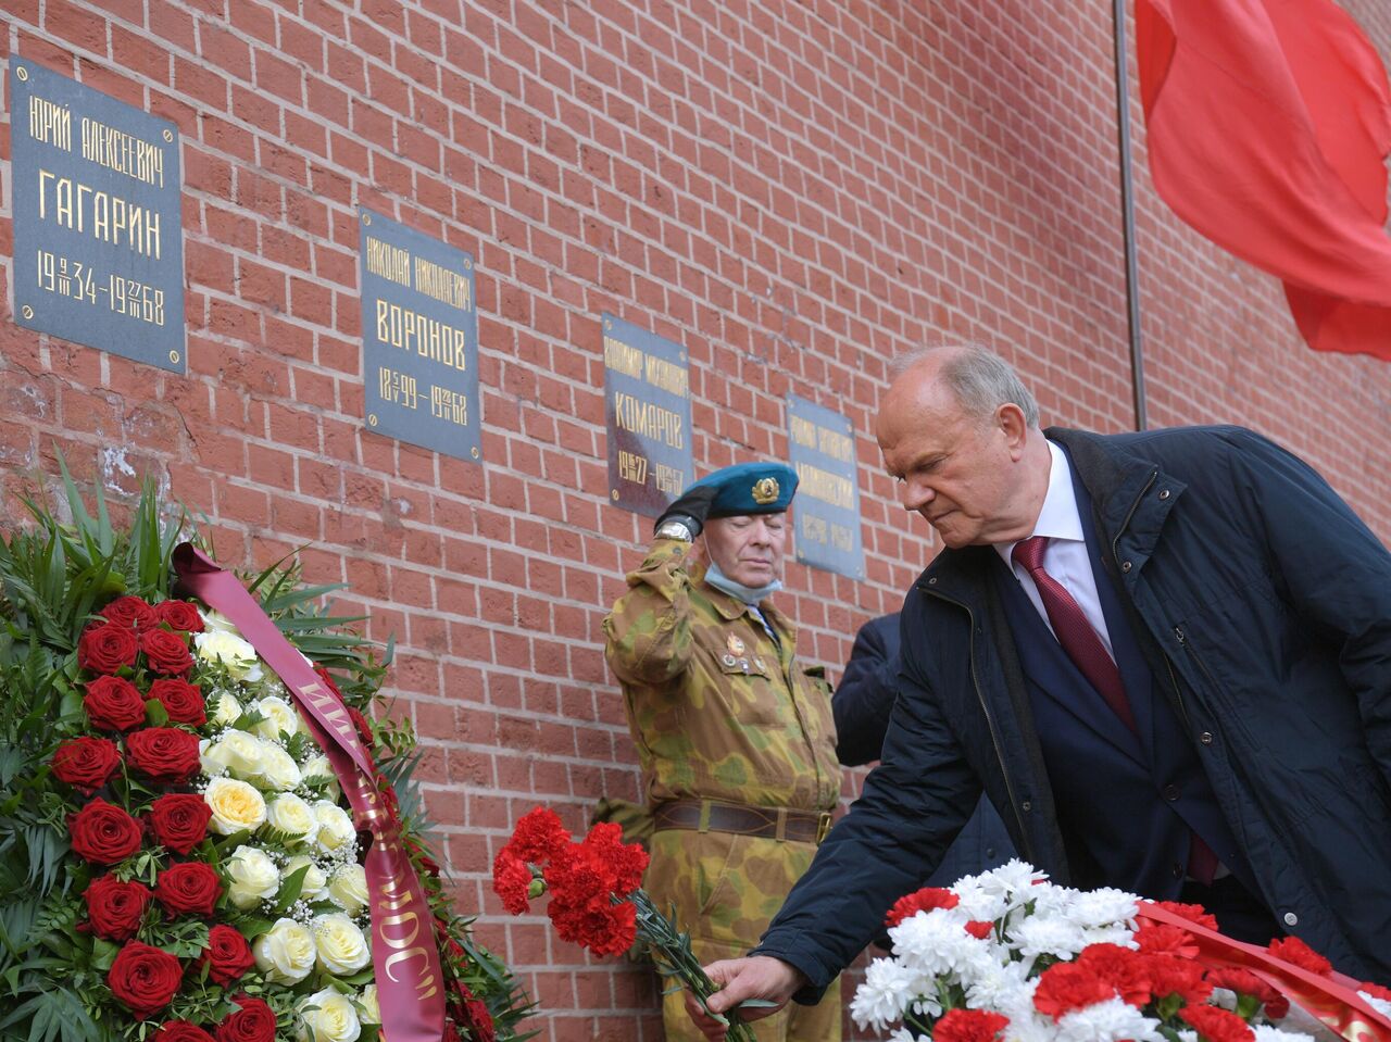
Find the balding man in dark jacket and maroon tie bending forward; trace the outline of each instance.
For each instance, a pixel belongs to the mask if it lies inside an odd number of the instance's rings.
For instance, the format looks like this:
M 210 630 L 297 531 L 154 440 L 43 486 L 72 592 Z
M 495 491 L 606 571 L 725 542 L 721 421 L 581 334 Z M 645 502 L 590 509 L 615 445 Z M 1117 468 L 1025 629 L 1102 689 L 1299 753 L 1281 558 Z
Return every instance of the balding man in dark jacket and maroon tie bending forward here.
M 1238 427 L 1045 433 L 976 348 L 911 359 L 876 433 L 946 550 L 881 765 L 711 1009 L 823 989 L 982 790 L 1057 882 L 1391 982 L 1391 554 L 1348 505 Z

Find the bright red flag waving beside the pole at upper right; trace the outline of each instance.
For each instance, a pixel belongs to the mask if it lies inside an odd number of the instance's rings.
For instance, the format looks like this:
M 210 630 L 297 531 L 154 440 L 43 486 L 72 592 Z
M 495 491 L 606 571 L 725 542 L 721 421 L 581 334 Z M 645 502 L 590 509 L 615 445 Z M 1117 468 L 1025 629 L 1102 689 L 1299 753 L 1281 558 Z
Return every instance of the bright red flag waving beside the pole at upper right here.
M 1391 360 L 1391 86 L 1333 0 L 1135 0 L 1160 196 L 1285 284 L 1319 351 Z

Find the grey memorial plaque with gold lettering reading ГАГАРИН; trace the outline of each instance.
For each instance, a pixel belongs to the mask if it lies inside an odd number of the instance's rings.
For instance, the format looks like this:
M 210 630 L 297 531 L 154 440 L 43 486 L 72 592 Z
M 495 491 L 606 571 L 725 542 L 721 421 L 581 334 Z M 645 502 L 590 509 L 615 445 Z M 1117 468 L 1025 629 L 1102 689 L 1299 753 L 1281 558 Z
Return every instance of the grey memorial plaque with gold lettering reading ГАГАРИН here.
M 174 124 L 11 58 L 10 147 L 15 321 L 185 371 Z

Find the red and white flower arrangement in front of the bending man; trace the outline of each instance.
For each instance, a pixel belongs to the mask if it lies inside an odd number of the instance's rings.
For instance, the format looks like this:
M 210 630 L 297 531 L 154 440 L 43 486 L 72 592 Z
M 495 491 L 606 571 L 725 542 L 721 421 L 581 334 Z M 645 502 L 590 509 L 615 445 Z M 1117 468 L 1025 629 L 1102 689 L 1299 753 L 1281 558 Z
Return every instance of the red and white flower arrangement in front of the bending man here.
M 908 895 L 886 925 L 893 954 L 850 1011 L 897 1024 L 894 1042 L 1309 1042 L 1321 1025 L 1276 982 L 1333 975 L 1296 938 L 1260 952 L 1199 906 L 1057 886 L 1022 861 Z M 1387 1011 L 1391 992 L 1356 988 Z

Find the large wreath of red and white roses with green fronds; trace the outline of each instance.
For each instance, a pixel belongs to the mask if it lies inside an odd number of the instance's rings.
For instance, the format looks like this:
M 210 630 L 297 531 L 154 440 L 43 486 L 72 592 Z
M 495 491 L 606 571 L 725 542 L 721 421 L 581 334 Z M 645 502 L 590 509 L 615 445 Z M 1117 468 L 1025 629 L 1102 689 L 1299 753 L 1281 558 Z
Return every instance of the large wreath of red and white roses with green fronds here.
M 0 543 L 0 1036 L 419 1038 L 378 999 L 374 840 L 300 691 L 230 619 L 175 595 L 178 526 L 150 488 L 128 531 L 75 491 L 71 526 L 33 509 L 36 530 Z M 438 947 L 445 1042 L 517 1038 L 526 999 L 469 938 L 424 842 L 415 737 L 369 715 L 384 665 L 294 562 L 250 586 L 296 665 L 314 655 L 321 704 L 373 768 L 376 819 L 419 878 L 401 936 Z

